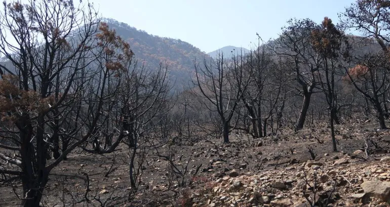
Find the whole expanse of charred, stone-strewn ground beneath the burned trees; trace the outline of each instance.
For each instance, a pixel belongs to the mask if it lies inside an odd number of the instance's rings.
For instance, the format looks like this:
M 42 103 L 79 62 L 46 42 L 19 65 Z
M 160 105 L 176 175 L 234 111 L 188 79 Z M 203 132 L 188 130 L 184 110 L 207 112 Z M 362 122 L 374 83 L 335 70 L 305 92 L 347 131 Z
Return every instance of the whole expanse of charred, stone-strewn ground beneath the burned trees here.
M 336 126 L 338 152 L 329 134 L 324 125 L 256 140 L 233 132 L 229 144 L 162 146 L 148 153 L 135 194 L 128 149 L 74 153 L 52 172 L 43 205 L 390 206 L 389 131 L 365 122 Z M 0 206 L 17 206 L 15 192 L 0 187 Z

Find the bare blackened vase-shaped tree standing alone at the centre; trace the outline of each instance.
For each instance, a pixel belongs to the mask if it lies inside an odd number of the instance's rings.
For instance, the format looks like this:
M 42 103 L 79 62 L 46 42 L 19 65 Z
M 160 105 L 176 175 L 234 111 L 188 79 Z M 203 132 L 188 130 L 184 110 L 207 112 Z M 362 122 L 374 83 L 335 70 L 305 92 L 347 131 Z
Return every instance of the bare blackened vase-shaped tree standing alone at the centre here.
M 232 57 L 229 61 L 222 53 L 210 63 L 205 59 L 203 67 L 194 62 L 196 80 L 192 82 L 200 92 L 195 90 L 193 92 L 207 100 L 204 105 L 208 110 L 218 113 L 224 143 L 229 142 L 230 120 L 241 98 L 246 94 L 249 77 L 252 74 L 243 70 L 245 61 L 243 55 Z

